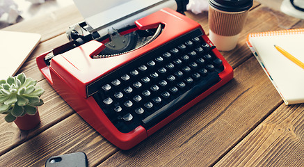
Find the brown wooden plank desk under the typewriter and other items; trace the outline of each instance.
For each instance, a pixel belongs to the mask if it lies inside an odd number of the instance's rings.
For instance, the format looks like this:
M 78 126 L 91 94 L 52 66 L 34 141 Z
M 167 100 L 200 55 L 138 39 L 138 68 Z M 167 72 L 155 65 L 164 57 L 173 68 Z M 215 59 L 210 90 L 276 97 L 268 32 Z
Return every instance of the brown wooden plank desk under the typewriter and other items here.
M 187 15 L 209 31 L 207 13 Z M 40 74 L 35 57 L 67 42 L 67 27 L 83 20 L 75 6 L 4 30 L 42 34 L 20 72 L 45 88 L 41 124 L 21 132 L 0 117 L 0 166 L 44 166 L 48 157 L 85 152 L 89 166 L 303 166 L 304 104 L 285 106 L 246 46 L 248 33 L 299 28 L 255 1 L 237 48 L 222 52 L 234 79 L 135 148 L 119 150 L 83 121 Z M 17 46 L 16 46 L 17 49 Z

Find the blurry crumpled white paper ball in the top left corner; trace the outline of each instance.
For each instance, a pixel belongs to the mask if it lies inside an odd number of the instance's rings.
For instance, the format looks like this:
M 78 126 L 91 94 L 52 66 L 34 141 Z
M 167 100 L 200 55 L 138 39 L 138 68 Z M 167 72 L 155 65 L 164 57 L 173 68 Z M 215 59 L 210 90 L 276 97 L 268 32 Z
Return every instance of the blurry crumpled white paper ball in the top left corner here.
M 7 13 L 8 17 L 6 22 L 15 24 L 20 15 L 17 4 L 13 0 L 0 0 L 0 17 Z

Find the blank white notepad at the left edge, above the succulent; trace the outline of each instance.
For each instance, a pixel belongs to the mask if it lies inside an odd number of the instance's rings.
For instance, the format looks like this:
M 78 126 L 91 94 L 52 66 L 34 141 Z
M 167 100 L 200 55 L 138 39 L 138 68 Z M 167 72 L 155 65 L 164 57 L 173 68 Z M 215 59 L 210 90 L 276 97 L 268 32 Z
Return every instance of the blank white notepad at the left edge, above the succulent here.
M 16 74 L 40 38 L 37 33 L 0 31 L 0 79 Z

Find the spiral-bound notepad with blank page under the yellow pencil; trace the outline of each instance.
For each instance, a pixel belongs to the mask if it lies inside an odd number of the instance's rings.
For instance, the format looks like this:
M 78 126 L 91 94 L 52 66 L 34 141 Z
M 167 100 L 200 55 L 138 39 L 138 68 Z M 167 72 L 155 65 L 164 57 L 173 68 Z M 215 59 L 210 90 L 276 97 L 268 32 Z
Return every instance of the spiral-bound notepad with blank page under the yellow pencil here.
M 304 29 L 250 33 L 247 45 L 285 104 L 304 102 L 304 69 L 282 55 L 274 45 L 304 62 Z

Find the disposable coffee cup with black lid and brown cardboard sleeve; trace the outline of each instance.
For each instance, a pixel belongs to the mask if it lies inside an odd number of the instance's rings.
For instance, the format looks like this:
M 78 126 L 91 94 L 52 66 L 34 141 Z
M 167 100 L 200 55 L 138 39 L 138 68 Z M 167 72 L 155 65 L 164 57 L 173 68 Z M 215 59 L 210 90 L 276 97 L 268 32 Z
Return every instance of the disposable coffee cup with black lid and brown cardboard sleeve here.
M 221 51 L 237 46 L 253 0 L 209 0 L 209 39 Z

